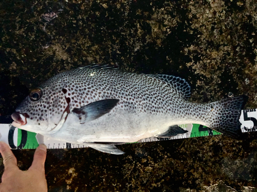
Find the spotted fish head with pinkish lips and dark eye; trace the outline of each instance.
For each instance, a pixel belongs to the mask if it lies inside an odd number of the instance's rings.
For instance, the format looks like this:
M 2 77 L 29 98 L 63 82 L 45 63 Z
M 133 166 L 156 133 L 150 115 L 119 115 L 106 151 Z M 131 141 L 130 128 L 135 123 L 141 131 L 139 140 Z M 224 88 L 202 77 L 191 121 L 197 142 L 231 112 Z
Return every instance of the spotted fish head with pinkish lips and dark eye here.
M 48 134 L 57 127 L 63 115 L 68 114 L 68 108 L 65 93 L 58 86 L 36 88 L 12 114 L 12 125 L 30 132 Z

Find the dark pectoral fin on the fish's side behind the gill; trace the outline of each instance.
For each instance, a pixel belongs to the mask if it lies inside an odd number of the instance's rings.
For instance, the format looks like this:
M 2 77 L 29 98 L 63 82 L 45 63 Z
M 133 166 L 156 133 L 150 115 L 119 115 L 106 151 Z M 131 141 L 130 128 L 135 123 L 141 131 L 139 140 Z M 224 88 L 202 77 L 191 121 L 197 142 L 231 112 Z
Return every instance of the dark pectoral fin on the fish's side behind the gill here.
M 89 103 L 82 108 L 75 108 L 72 113 L 75 114 L 80 123 L 85 123 L 86 121 L 95 120 L 104 114 L 111 111 L 119 102 L 119 99 L 104 99 Z

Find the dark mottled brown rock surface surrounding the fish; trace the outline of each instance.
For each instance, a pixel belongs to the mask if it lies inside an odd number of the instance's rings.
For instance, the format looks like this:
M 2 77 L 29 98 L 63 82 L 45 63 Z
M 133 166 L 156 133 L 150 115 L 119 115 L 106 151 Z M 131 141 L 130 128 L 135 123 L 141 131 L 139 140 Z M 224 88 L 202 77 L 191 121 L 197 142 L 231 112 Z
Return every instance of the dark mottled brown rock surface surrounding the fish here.
M 180 76 L 194 102 L 246 94 L 257 108 L 257 2 L 0 2 L 0 114 L 62 71 L 107 63 L 136 73 Z M 57 17 L 50 17 L 57 15 Z M 48 150 L 49 191 L 204 190 L 222 180 L 257 187 L 257 133 L 119 146 Z M 34 150 L 14 151 L 27 169 Z M 1 161 L 1 171 L 3 173 Z M 254 189 L 252 189 L 254 190 Z

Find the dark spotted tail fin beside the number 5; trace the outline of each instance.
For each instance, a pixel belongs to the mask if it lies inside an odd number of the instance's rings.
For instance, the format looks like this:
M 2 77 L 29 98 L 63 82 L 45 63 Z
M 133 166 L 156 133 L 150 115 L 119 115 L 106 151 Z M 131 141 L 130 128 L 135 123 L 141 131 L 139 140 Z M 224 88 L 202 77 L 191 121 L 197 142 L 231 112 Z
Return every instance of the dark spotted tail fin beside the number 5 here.
M 219 133 L 239 138 L 242 135 L 239 118 L 247 100 L 246 95 L 241 95 L 208 103 L 211 110 L 209 127 Z

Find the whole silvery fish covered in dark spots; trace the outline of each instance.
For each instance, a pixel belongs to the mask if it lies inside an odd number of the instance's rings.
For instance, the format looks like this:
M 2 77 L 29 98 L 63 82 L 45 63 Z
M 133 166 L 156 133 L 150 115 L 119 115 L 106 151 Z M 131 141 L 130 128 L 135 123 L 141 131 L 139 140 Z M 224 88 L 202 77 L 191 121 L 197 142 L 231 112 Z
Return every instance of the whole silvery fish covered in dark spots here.
M 194 103 L 189 83 L 163 74 L 137 74 L 90 65 L 53 76 L 17 106 L 12 125 L 54 140 L 124 154 L 116 145 L 186 133 L 197 123 L 233 138 L 246 95 Z

